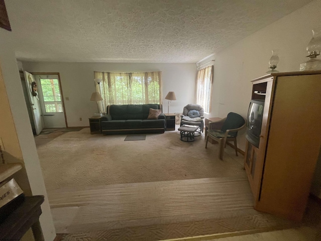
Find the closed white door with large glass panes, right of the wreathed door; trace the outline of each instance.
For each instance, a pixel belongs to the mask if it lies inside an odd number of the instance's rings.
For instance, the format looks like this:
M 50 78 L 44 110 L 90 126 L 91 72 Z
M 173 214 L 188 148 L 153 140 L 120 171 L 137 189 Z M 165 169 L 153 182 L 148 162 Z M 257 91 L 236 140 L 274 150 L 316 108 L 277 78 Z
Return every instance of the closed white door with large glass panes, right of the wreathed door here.
M 35 75 L 45 128 L 66 128 L 59 76 Z

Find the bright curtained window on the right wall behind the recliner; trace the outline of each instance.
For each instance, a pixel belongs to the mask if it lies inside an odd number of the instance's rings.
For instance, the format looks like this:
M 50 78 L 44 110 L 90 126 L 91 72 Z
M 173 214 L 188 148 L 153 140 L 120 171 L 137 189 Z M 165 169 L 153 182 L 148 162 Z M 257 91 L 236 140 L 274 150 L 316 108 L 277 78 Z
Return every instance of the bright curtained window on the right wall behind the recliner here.
M 200 104 L 206 113 L 211 110 L 212 85 L 214 66 L 200 69 L 196 77 L 196 103 Z

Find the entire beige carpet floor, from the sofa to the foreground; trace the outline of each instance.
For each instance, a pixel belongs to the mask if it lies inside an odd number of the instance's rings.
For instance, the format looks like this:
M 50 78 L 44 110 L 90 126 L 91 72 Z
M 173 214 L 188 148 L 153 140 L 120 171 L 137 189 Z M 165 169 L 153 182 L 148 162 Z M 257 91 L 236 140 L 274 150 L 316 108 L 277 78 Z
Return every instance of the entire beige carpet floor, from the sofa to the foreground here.
M 243 156 L 178 131 L 123 135 L 69 132 L 38 148 L 57 233 L 64 241 L 159 240 L 262 231 L 292 223 L 253 209 Z

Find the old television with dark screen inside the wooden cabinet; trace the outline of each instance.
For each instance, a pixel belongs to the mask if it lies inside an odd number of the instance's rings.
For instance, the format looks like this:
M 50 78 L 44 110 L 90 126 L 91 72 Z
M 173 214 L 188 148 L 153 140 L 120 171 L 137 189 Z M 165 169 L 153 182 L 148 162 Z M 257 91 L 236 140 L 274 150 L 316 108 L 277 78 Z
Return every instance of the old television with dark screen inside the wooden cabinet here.
M 264 101 L 252 99 L 247 113 L 246 139 L 257 148 L 260 144 Z

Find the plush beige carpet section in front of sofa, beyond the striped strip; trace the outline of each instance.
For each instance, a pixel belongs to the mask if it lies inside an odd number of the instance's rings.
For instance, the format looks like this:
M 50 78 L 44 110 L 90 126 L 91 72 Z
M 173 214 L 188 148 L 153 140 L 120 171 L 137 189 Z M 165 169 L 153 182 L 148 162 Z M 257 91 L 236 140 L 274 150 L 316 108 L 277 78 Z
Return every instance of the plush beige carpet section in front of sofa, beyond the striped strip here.
M 193 143 L 182 142 L 178 131 L 148 134 L 144 142 L 124 137 L 90 135 L 85 128 L 40 146 L 47 190 L 245 175 L 242 155 L 228 146 L 219 160 L 217 145 L 205 149 L 204 136 Z

